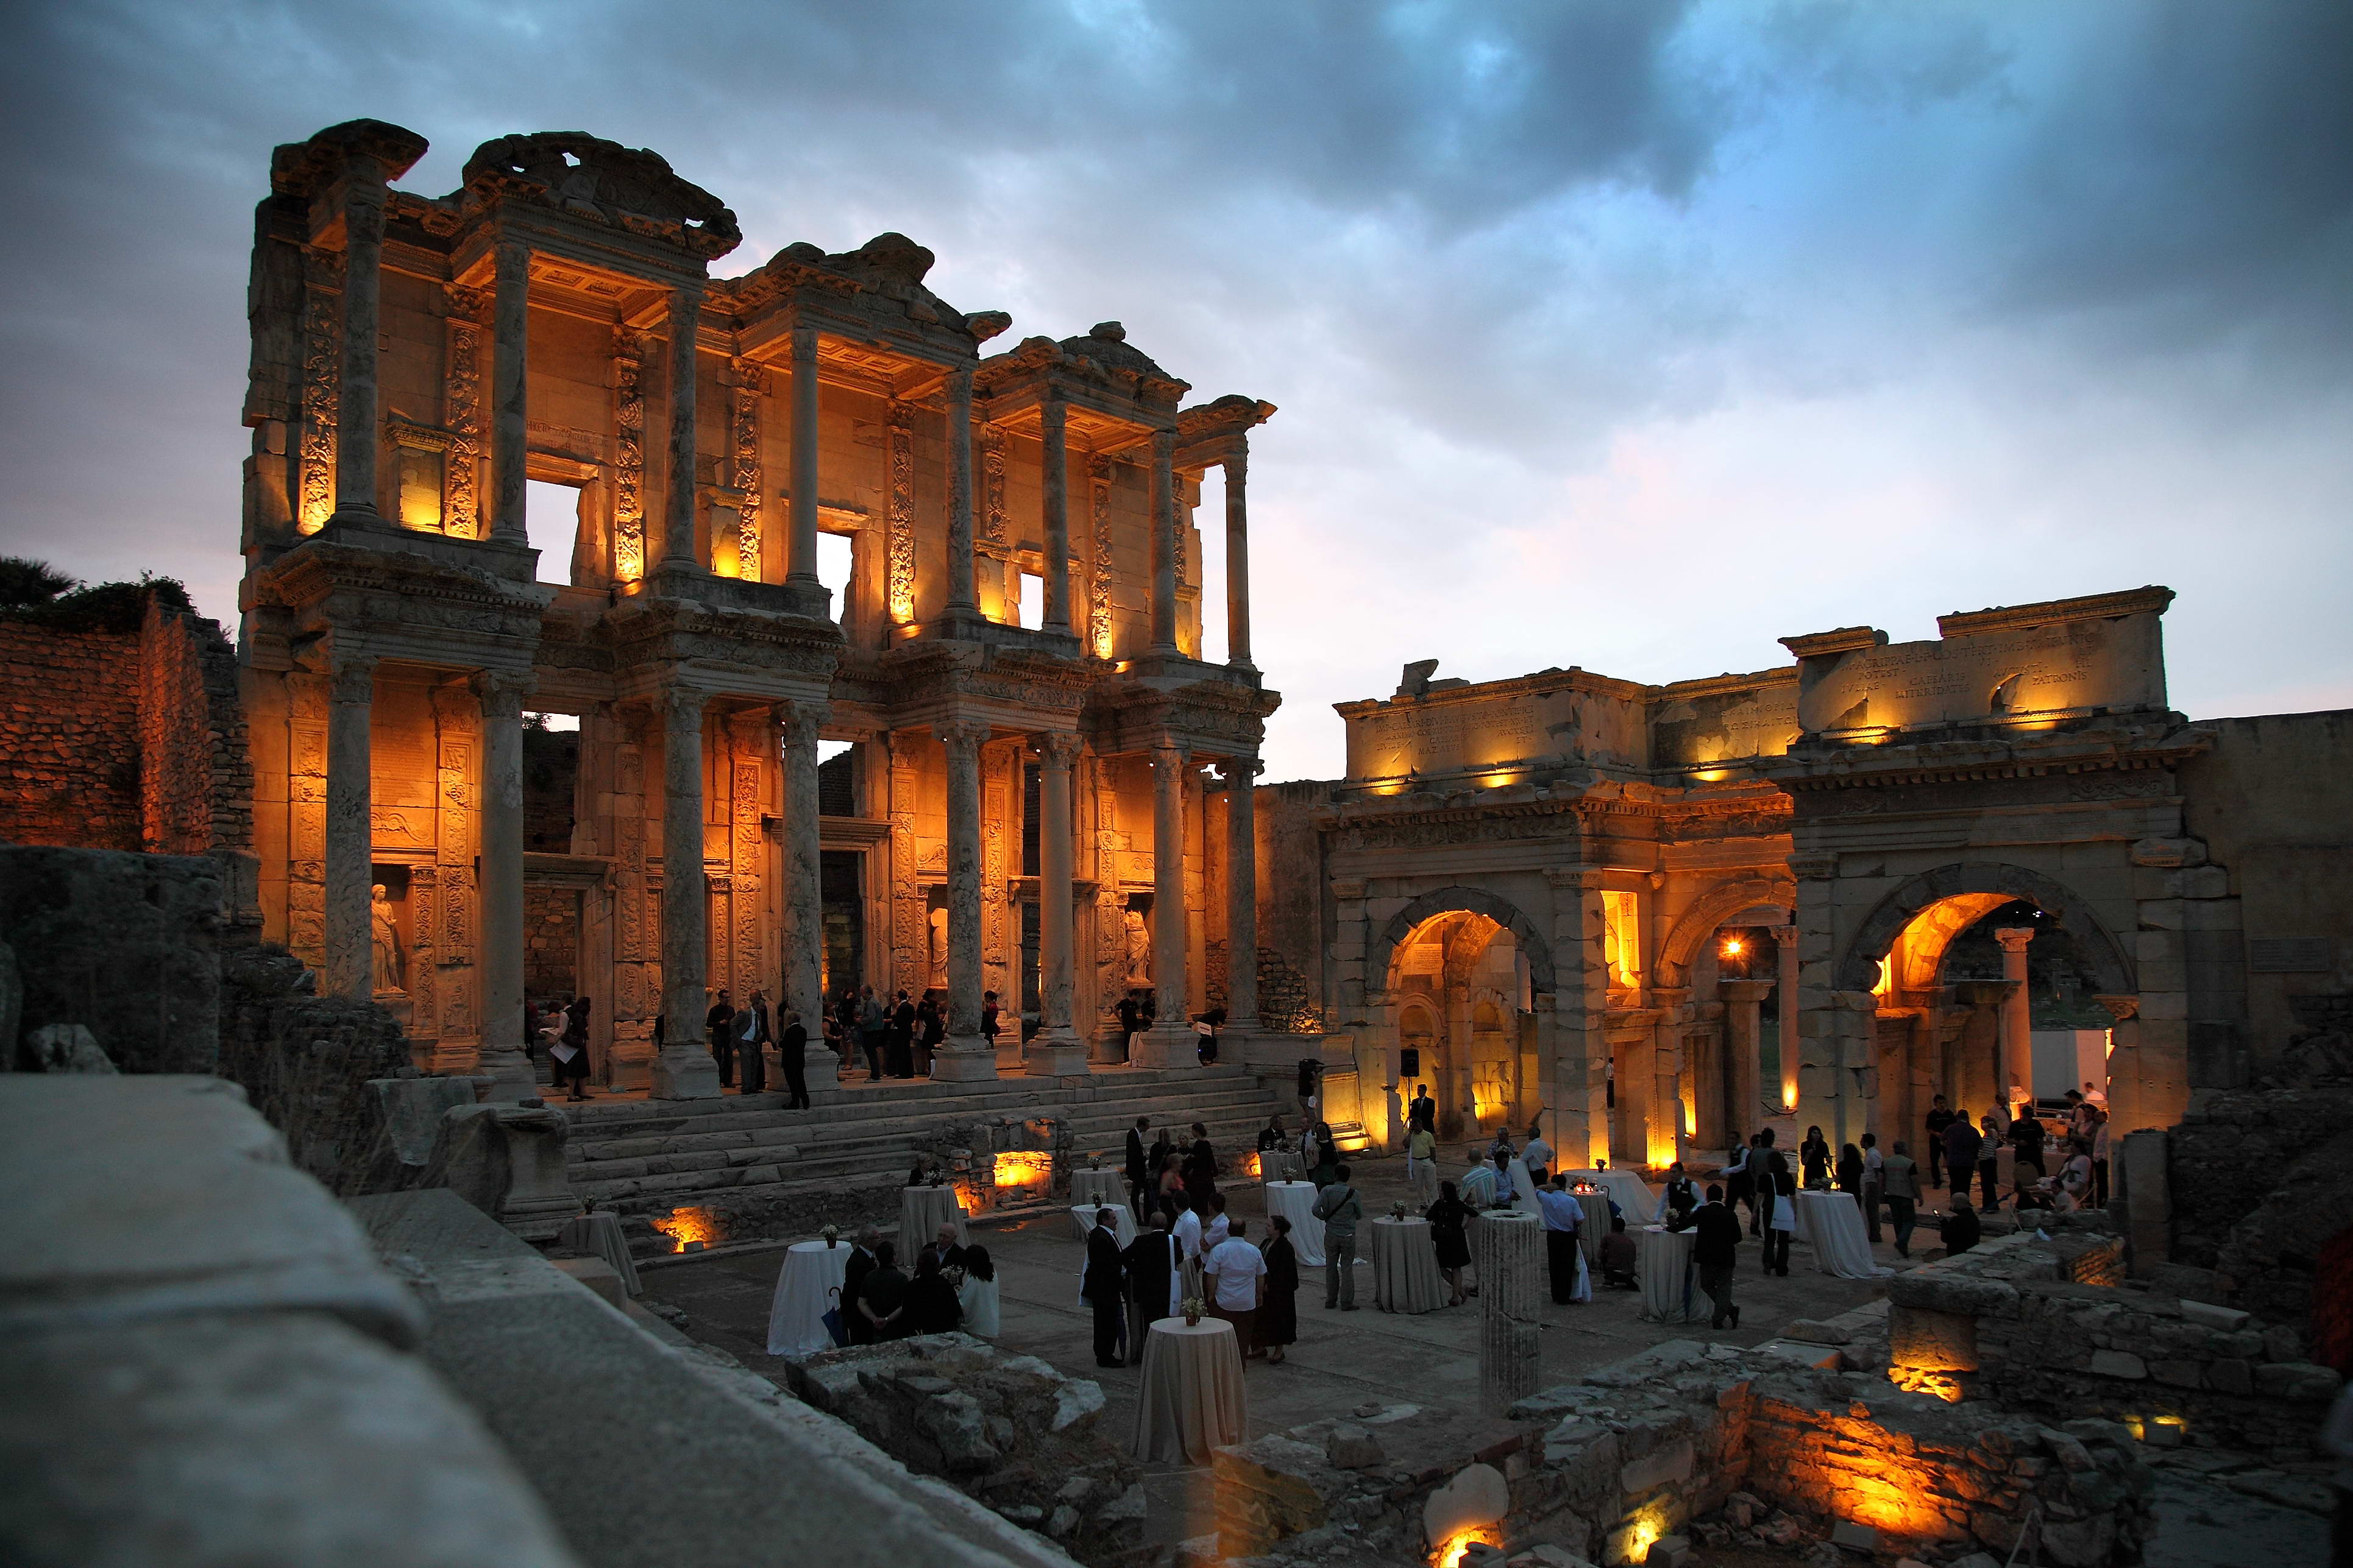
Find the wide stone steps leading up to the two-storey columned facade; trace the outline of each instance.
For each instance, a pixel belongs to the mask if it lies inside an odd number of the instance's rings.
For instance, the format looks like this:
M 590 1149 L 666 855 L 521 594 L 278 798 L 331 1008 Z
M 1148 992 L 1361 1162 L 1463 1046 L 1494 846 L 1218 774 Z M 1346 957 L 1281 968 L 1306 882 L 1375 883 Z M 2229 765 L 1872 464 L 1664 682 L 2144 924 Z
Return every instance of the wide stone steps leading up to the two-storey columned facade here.
M 946 1124 L 1054 1117 L 1071 1128 L 1075 1166 L 1099 1154 L 1122 1161 L 1127 1128 L 1151 1117 L 1176 1133 L 1200 1121 L 1228 1173 L 1257 1150 L 1266 1117 L 1292 1117 L 1292 1081 L 1238 1063 L 1191 1070 L 1108 1067 L 1087 1077 L 993 1084 L 892 1081 L 814 1084 L 809 1110 L 786 1110 L 781 1093 L 718 1100 L 602 1100 L 562 1107 L 572 1119 L 565 1166 L 572 1190 L 652 1237 L 652 1218 L 673 1208 L 727 1211 L 722 1237 L 795 1234 L 814 1215 L 847 1222 L 896 1213 L 896 1190 L 918 1152 Z M 656 1251 L 668 1241 L 656 1239 Z

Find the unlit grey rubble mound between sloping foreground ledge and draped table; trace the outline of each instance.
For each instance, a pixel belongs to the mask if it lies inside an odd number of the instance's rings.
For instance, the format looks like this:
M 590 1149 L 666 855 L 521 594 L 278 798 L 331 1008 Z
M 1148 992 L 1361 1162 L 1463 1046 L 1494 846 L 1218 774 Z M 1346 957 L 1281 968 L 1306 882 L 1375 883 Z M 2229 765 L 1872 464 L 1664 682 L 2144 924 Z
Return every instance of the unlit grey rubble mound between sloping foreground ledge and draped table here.
M 786 1371 L 809 1406 L 1078 1561 L 1127 1561 L 1136 1549 L 1141 1472 L 1125 1443 L 1099 1429 L 1099 1382 L 962 1333 L 828 1349 Z

